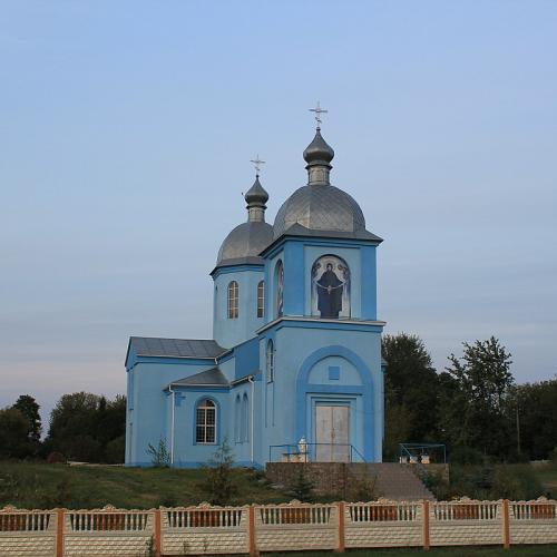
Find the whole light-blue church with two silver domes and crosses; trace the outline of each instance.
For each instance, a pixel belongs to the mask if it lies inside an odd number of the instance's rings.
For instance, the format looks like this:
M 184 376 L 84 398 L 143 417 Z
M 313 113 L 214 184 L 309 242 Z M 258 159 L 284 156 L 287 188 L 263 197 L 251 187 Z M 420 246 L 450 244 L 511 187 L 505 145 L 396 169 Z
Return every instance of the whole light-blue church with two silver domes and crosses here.
M 131 336 L 126 465 L 207 462 L 226 442 L 238 466 L 380 462 L 383 372 L 375 250 L 358 203 L 330 182 L 321 135 L 303 153 L 307 185 L 265 222 L 255 182 L 247 218 L 218 250 L 213 339 Z

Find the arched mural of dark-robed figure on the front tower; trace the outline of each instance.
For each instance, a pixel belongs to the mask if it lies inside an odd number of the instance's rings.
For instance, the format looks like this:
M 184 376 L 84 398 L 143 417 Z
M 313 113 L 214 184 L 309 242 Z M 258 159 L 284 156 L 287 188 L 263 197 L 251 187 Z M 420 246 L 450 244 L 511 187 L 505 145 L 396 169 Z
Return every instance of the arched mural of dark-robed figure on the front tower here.
M 312 315 L 350 317 L 350 268 L 335 255 L 324 255 L 312 266 Z

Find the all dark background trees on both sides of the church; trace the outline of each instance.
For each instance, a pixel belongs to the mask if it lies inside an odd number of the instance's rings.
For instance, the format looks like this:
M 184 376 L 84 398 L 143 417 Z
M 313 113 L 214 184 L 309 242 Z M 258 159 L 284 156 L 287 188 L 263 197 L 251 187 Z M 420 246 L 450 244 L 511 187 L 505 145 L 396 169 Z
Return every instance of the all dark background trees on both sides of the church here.
M 556 450 L 557 378 L 517 384 L 497 339 L 465 342 L 439 372 L 417 335 L 383 336 L 382 353 L 384 460 L 404 442 L 443 443 L 461 463 L 547 459 Z M 0 409 L 0 458 L 123 462 L 125 431 L 125 397 L 77 392 L 60 398 L 41 439 L 39 404 L 22 394 Z

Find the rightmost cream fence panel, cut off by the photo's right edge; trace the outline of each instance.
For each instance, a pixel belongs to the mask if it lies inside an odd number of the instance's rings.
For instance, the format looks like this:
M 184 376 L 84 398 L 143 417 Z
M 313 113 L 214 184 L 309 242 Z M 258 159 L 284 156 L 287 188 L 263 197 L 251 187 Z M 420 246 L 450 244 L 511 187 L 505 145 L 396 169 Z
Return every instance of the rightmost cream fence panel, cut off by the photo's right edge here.
M 509 521 L 511 544 L 557 544 L 556 501 L 511 502 Z

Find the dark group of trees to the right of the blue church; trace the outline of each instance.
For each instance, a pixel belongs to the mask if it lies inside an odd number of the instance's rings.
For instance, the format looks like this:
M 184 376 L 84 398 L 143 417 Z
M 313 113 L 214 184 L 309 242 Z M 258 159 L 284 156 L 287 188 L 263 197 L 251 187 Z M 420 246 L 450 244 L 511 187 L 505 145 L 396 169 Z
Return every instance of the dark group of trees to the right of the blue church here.
M 511 355 L 494 336 L 462 343 L 440 372 L 417 335 L 385 335 L 382 352 L 385 460 L 404 442 L 444 443 L 461 463 L 539 460 L 556 450 L 557 378 L 517 384 Z

